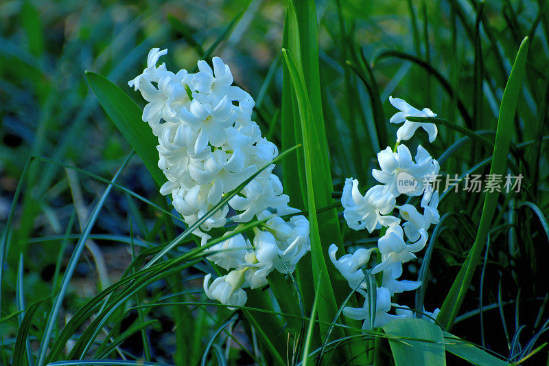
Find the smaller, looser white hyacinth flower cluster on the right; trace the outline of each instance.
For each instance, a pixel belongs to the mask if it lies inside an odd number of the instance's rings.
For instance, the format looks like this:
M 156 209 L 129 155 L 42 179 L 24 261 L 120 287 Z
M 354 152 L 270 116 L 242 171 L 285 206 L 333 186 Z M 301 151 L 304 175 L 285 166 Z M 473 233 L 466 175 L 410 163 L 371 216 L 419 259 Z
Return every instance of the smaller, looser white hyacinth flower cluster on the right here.
M 379 327 L 392 319 L 413 317 L 414 314 L 407 306 L 399 306 L 391 303 L 391 297 L 395 293 L 415 290 L 421 286 L 421 282 L 399 280 L 402 275 L 402 264 L 416 256 L 414 253 L 421 251 L 428 240 L 428 229 L 432 224 L 439 222 L 439 192 L 433 190 L 430 178 L 439 174 L 438 161 L 433 159 L 421 145 L 417 148 L 417 154 L 412 159 L 408 147 L 399 145 L 401 140 L 408 140 L 415 130 L 421 127 L 429 135 L 429 141 L 436 137 L 436 126 L 430 123 L 417 123 L 406 120 L 407 116 L 434 117 L 430 109 L 423 111 L 410 106 L 404 100 L 389 98 L 391 104 L 400 112 L 391 117 L 390 122 L 401 123 L 397 131 L 397 148 L 393 152 L 386 148 L 377 154 L 377 161 L 381 170 L 372 170 L 372 175 L 379 185 L 371 187 L 364 196 L 358 190 L 358 180 L 347 179 L 343 188 L 341 204 L 344 207 L 343 216 L 347 225 L 354 230 L 366 229 L 370 233 L 375 229 L 382 229 L 382 236 L 377 240 L 377 248 L 357 249 L 352 254 L 344 254 L 336 259 L 338 248 L 336 244 L 329 247 L 329 258 L 338 271 L 349 282 L 351 288 L 356 288 L 358 293 L 364 296 L 362 308 L 343 309 L 343 314 L 351 319 L 364 320 L 363 329 L 370 329 L 369 301 L 367 291 L 376 291 L 375 322 L 373 327 Z M 397 198 L 404 196 L 422 196 L 421 214 L 416 207 L 406 203 L 397 205 Z M 397 209 L 404 222 L 393 216 Z M 366 286 L 363 267 L 370 261 L 371 253 L 377 251 L 378 262 L 371 268 L 371 274 L 382 273 L 381 284 L 377 288 Z M 391 307 L 396 307 L 396 314 L 389 314 Z M 436 318 L 439 310 L 434 313 L 426 313 Z M 426 319 L 430 319 L 426 317 Z

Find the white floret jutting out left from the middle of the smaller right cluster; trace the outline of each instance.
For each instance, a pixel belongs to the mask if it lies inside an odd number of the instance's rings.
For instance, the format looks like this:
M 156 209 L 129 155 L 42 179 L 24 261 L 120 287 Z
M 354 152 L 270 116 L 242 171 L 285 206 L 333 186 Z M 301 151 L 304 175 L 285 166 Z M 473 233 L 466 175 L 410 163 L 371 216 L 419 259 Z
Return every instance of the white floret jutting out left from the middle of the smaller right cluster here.
M 395 203 L 395 196 L 383 185 L 371 187 L 362 196 L 358 190 L 358 180 L 345 179 L 341 196 L 343 217 L 353 230 L 372 232 L 377 227 L 397 224 L 399 219 L 389 215 Z

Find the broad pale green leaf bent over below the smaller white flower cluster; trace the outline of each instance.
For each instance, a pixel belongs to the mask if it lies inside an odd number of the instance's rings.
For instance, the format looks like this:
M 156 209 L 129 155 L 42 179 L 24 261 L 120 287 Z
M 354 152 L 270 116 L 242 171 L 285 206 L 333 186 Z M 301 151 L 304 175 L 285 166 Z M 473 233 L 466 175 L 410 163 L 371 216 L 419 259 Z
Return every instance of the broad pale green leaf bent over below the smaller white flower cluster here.
M 402 341 L 389 339 L 397 366 L 446 365 L 444 337 L 438 325 L 423 319 L 399 319 L 382 328 L 390 336 L 406 338 Z

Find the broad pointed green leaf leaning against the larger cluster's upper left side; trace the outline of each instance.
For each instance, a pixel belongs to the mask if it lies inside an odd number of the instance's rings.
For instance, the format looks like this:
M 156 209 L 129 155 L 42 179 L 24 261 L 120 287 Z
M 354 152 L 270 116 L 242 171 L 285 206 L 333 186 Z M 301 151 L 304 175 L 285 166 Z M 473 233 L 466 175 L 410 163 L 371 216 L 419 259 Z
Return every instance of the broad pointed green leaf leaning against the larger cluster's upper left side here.
M 141 120 L 141 108 L 124 91 L 104 76 L 86 71 L 91 90 L 110 119 L 128 143 L 141 157 L 145 167 L 159 186 L 166 178 L 158 167 L 159 155 L 156 151 L 158 141 L 150 132 L 149 126 Z

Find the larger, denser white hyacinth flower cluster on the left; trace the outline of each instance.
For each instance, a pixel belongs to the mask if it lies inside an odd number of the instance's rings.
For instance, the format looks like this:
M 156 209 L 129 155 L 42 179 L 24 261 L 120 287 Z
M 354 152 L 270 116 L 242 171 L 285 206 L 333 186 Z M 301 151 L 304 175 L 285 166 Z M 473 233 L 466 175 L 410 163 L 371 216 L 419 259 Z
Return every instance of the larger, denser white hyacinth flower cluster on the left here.
M 193 225 L 222 196 L 270 164 L 231 198 L 229 205 L 194 231 L 205 245 L 211 238 L 207 231 L 224 227 L 228 219 L 249 222 L 268 218 L 263 230 L 255 228 L 252 242 L 239 233 L 208 249 L 212 253 L 209 259 L 229 273 L 211 284 L 211 275 L 207 275 L 205 293 L 222 304 L 243 306 L 247 296 L 242 288 L 265 286 L 266 276 L 274 269 L 294 271 L 310 250 L 309 222 L 304 216 L 288 221 L 280 217 L 299 210 L 288 206 L 290 199 L 272 173 L 278 149 L 261 137 L 251 118 L 255 102 L 233 85 L 229 66 L 214 57 L 213 69 L 200 60 L 196 73 L 185 69 L 173 73 L 164 63 L 156 66 L 165 54 L 167 49 L 151 49 L 147 68 L 128 84 L 148 102 L 143 121 L 159 139 L 159 168 L 167 178 L 160 192 L 172 195 L 172 203 L 187 225 Z

